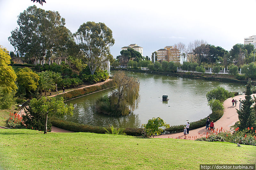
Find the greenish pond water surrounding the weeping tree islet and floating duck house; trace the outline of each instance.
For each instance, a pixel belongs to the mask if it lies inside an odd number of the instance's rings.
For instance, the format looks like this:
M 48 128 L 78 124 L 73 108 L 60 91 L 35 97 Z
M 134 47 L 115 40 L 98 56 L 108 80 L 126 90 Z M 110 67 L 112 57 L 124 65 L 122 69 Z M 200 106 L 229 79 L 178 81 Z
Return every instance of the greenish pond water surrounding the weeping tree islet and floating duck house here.
M 114 73 L 115 71 L 111 74 Z M 211 89 L 220 86 L 232 92 L 242 93 L 245 90 L 244 84 L 132 71 L 126 71 L 126 73 L 137 77 L 140 81 L 140 103 L 132 114 L 124 117 L 109 117 L 96 113 L 95 101 L 101 95 L 109 94 L 111 90 L 108 89 L 67 101 L 67 104 L 76 103 L 77 109 L 73 117 L 65 116 L 63 119 L 104 127 L 113 125 L 114 127 L 138 128 L 152 117 L 161 117 L 170 125 L 180 125 L 186 120 L 197 121 L 211 113 L 206 99 L 206 93 Z M 162 101 L 162 95 L 168 95 L 169 101 Z

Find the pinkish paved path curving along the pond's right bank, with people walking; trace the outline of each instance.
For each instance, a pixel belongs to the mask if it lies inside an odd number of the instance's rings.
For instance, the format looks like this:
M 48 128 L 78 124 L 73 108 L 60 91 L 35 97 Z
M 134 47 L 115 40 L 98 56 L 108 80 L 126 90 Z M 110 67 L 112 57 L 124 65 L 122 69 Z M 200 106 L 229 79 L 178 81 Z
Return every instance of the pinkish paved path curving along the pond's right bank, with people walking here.
M 253 98 L 253 95 L 255 95 L 255 94 L 252 94 L 252 98 Z M 245 95 L 235 96 L 234 99 L 238 101 L 236 106 L 235 105 L 232 106 L 232 102 L 231 102 L 232 98 L 228 98 L 227 100 L 225 100 L 223 102 L 224 114 L 218 121 L 214 122 L 215 130 L 217 130 L 217 128 L 218 128 L 218 131 L 219 131 L 219 129 L 221 129 L 221 127 L 222 127 L 223 128 L 222 130 L 230 131 L 230 126 L 233 126 L 237 121 L 239 121 L 238 115 L 236 113 L 236 109 L 239 109 L 239 103 L 240 103 L 239 97 L 242 97 L 242 100 L 245 99 Z M 210 130 L 205 130 L 205 126 L 204 126 L 202 128 L 189 130 L 189 135 L 186 135 L 186 137 L 187 137 L 187 139 L 195 140 L 196 138 L 205 137 L 207 132 L 212 133 Z M 200 135 L 199 135 L 199 133 L 200 133 Z M 154 136 L 154 137 L 155 138 L 178 138 L 178 139 L 180 138 L 180 139 L 183 139 L 184 134 L 183 134 L 183 132 L 179 132 L 179 133 L 163 134 L 163 135 Z

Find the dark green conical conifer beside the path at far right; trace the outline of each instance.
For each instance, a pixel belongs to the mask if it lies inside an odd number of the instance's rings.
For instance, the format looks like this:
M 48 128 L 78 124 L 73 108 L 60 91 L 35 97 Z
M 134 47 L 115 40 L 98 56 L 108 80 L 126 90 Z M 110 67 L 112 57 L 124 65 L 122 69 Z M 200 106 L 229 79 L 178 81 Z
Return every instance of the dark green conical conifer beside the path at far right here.
M 241 103 L 242 103 L 242 108 L 241 110 L 237 110 L 237 113 L 238 113 L 238 119 L 240 121 L 240 129 L 245 129 L 247 128 L 247 125 L 248 125 L 248 121 L 249 121 L 249 117 L 250 115 L 252 114 L 252 103 L 253 103 L 253 100 L 252 100 L 252 97 L 251 97 L 251 88 L 252 88 L 252 85 L 251 85 L 251 79 L 249 79 L 247 85 L 246 85 L 246 92 L 245 92 L 245 100 L 242 100 Z

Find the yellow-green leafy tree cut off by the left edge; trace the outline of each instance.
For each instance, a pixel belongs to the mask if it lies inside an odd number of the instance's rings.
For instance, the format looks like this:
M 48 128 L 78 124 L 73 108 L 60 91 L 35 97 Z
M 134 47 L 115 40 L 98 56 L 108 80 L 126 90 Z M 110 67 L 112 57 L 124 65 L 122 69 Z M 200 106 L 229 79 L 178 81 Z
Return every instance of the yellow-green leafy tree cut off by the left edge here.
M 4 93 L 17 89 L 15 84 L 17 76 L 9 64 L 11 64 L 11 57 L 8 51 L 0 45 L 0 87 Z

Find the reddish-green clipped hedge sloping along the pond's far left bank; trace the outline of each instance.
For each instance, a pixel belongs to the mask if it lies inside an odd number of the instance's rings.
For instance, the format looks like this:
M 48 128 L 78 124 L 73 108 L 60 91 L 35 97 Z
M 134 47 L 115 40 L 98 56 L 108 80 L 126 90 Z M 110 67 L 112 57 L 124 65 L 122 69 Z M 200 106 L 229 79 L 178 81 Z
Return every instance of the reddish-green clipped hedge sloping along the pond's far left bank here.
M 104 90 L 104 89 L 107 89 L 112 86 L 114 86 L 114 84 L 113 84 L 113 81 L 110 80 L 102 85 L 94 85 L 94 86 L 90 86 L 90 87 L 84 87 L 82 89 L 72 90 L 69 92 L 65 92 L 64 94 L 59 94 L 55 97 L 56 98 L 63 97 L 64 101 L 66 101 L 66 100 L 74 99 L 76 97 L 84 96 L 86 94 L 90 94 L 93 92 L 98 92 L 100 90 Z

